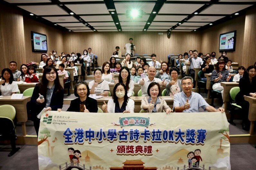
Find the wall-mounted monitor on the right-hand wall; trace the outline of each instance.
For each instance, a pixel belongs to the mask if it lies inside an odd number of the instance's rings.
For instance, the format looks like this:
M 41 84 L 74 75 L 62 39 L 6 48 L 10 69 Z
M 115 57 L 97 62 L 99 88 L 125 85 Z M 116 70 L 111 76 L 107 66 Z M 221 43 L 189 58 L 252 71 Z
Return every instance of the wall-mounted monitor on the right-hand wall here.
M 220 34 L 219 51 L 235 51 L 236 30 Z

